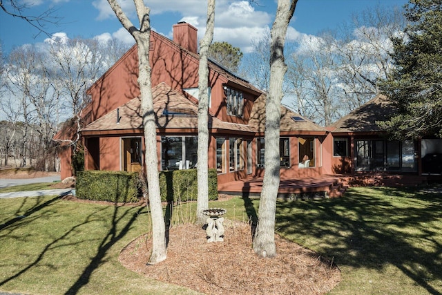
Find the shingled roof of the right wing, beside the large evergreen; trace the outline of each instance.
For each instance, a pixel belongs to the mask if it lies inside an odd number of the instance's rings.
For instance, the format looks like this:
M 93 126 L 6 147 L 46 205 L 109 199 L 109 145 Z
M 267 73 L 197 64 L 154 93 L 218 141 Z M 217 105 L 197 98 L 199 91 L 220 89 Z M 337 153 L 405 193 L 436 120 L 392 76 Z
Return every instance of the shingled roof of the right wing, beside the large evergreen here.
M 376 121 L 388 120 L 397 111 L 396 106 L 385 95 L 376 95 L 372 100 L 356 108 L 345 117 L 330 125 L 332 133 L 379 132 Z

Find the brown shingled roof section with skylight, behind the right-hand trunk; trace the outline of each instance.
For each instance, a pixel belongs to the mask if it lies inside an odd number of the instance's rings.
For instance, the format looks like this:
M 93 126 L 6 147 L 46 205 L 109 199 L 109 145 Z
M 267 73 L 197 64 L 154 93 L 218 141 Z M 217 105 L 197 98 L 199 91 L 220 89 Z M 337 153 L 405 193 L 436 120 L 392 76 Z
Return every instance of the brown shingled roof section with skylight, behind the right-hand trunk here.
M 251 110 L 251 118 L 249 125 L 251 128 L 256 129 L 258 132 L 263 133 L 265 131 L 265 100 L 266 95 L 261 95 L 256 99 Z M 298 117 L 303 120 L 295 121 L 292 117 Z M 302 117 L 298 113 L 291 111 L 285 106 L 281 106 L 281 124 L 280 132 L 316 132 L 327 133 L 326 129 L 311 122 L 305 117 Z

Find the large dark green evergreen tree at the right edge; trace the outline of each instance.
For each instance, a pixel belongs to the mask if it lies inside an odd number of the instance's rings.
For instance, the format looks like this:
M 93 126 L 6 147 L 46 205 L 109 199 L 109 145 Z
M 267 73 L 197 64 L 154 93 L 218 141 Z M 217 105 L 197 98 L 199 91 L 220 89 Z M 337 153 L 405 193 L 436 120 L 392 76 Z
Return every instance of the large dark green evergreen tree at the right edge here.
M 442 137 L 442 0 L 410 0 L 405 11 L 410 24 L 382 84 L 398 113 L 378 124 L 396 139 Z

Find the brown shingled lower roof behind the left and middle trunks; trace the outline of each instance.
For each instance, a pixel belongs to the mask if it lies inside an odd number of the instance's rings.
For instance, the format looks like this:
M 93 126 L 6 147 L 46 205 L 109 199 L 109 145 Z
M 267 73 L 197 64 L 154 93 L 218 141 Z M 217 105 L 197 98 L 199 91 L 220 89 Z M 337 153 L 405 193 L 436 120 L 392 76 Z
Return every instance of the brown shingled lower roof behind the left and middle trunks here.
M 160 83 L 153 88 L 152 97 L 158 129 L 194 129 L 196 132 L 198 129 L 198 106 L 196 104 L 165 83 Z M 171 112 L 169 113 L 167 110 L 171 110 Z M 185 110 L 185 113 L 177 113 L 173 110 Z M 118 131 L 142 128 L 141 99 L 135 97 L 95 122 L 88 124 L 81 132 L 115 131 L 118 133 Z M 222 122 L 216 117 L 209 117 L 209 128 L 254 132 L 248 125 Z

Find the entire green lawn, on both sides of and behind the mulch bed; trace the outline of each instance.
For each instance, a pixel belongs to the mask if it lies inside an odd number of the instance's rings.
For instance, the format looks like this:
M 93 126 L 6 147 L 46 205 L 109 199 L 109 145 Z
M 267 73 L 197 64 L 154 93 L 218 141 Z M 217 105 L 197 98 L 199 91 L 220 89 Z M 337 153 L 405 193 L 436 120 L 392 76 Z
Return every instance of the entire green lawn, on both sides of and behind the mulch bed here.
M 277 231 L 334 260 L 343 280 L 332 294 L 441 294 L 441 195 L 354 188 L 344 198 L 278 202 Z M 195 220 L 195 207 L 174 208 L 171 224 Z M 227 218 L 256 220 L 258 200 L 233 198 L 209 207 L 226 208 Z M 148 228 L 144 207 L 81 204 L 53 196 L 1 199 L 0 290 L 197 294 L 119 264 L 119 251 Z

